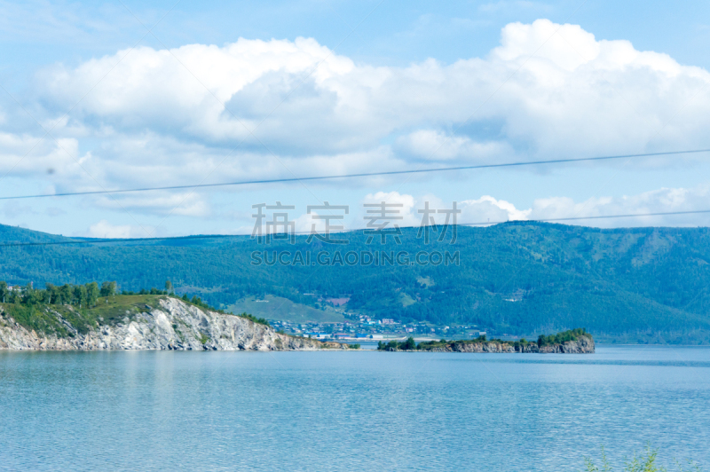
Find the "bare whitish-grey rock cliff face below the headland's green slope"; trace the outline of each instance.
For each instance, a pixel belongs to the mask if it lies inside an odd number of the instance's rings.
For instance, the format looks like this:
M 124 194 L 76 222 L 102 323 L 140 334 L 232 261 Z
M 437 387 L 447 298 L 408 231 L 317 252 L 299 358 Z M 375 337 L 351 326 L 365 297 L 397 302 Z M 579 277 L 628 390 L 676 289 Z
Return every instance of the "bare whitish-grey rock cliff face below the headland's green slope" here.
M 177 298 L 163 298 L 122 323 L 79 333 L 58 312 L 69 335 L 37 334 L 12 318 L 0 326 L 0 350 L 321 350 L 348 349 L 339 342 L 277 333 L 271 326 L 234 315 L 201 310 Z

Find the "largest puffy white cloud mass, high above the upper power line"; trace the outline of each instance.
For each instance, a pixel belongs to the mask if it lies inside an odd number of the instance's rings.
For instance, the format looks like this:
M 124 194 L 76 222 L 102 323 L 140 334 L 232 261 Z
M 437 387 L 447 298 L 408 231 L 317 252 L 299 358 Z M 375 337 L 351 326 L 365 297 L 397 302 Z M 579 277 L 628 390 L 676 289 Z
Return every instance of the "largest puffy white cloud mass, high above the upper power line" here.
M 434 161 L 467 146 L 484 156 L 508 146 L 546 155 L 690 146 L 704 137 L 710 108 L 696 95 L 710 83 L 704 69 L 549 20 L 509 24 L 485 59 L 451 65 L 356 65 L 314 39 L 240 39 L 118 51 L 39 80 L 48 106 L 72 105 L 99 83 L 77 107 L 80 120 L 286 153 L 351 152 L 392 134 L 411 147 L 441 141 L 431 123 L 496 124 L 495 141 L 449 133 L 445 146 L 432 145 Z

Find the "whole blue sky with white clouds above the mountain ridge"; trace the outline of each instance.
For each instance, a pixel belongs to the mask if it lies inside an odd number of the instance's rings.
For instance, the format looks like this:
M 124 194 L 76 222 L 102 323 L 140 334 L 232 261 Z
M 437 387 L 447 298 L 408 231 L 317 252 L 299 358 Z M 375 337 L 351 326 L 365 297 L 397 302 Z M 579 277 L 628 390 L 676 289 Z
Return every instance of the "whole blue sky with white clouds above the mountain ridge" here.
M 635 0 L 0 1 L 0 198 L 707 149 L 708 18 Z M 710 209 L 709 171 L 691 153 L 0 200 L 0 223 L 251 234 L 280 202 L 307 232 L 376 224 L 364 205 L 385 201 L 400 225 L 456 202 L 460 223 L 707 226 L 599 216 Z

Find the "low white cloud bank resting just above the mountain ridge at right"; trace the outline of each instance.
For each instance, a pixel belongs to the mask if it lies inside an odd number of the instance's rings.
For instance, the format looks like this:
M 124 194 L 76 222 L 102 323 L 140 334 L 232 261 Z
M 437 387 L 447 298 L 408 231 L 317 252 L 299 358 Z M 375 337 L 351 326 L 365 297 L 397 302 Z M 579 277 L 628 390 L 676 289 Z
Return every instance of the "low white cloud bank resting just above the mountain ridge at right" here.
M 692 212 L 710 210 L 710 185 L 698 185 L 692 188 L 660 188 L 651 192 L 624 195 L 621 197 L 596 197 L 586 201 L 574 201 L 568 197 L 549 197 L 536 199 L 530 208 L 517 208 L 515 204 L 483 195 L 477 199 L 463 201 L 444 201 L 434 194 L 414 196 L 396 191 L 368 193 L 357 206 L 348 206 L 347 210 L 313 209 L 304 213 L 303 208 L 264 209 L 261 234 L 291 232 L 307 234 L 317 232 L 325 234 L 326 221 L 322 216 L 343 216 L 330 220 L 329 232 L 343 231 L 335 226 L 344 226 L 344 231 L 376 229 L 378 225 L 389 222 L 386 228 L 419 227 L 422 224 L 453 224 L 451 211 L 459 210 L 455 218 L 457 224 L 487 226 L 509 221 L 550 221 L 561 224 L 590 225 L 603 228 L 640 227 L 640 226 L 707 226 L 708 214 L 656 215 L 650 213 Z M 382 203 L 387 212 L 383 217 Z M 333 203 L 332 203 L 333 204 Z M 375 205 L 375 206 L 365 206 Z M 300 213 L 299 213 L 300 210 Z M 256 212 L 256 209 L 254 210 Z M 285 220 L 293 226 L 267 225 L 275 221 L 276 213 L 287 213 Z M 448 214 L 448 215 L 447 215 Z M 631 216 L 629 216 L 631 215 Z M 249 215 L 240 215 L 246 220 Z M 605 217 L 608 216 L 608 217 Z M 625 217 L 619 217 L 625 216 Z M 256 224 L 256 218 L 252 218 Z M 369 225 L 368 225 L 369 224 Z M 237 229 L 221 231 L 229 234 L 252 234 L 255 226 L 243 225 Z

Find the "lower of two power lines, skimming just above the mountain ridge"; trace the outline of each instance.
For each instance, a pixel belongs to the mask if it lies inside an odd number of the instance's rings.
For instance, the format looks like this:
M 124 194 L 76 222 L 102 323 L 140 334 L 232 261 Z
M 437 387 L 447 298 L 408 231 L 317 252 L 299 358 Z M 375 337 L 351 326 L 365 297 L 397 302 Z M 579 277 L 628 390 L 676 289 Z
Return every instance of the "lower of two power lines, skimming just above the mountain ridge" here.
M 662 211 L 654 213 L 629 213 L 624 215 L 606 215 L 606 216 L 571 216 L 566 218 L 541 218 L 535 220 L 501 220 L 501 221 L 485 221 L 477 223 L 457 223 L 457 226 L 488 226 L 493 224 L 505 224 L 505 223 L 556 223 L 561 221 L 580 221 L 589 219 L 605 219 L 605 218 L 634 218 L 634 217 L 644 217 L 644 216 L 672 216 L 672 215 L 698 215 L 710 213 L 710 209 L 698 209 L 692 211 Z M 443 226 L 443 224 L 439 224 Z M 418 228 L 419 226 L 404 226 L 401 229 L 408 228 Z M 359 230 L 344 230 L 337 233 L 342 234 L 344 232 L 356 232 Z M 311 234 L 312 232 L 294 232 L 294 234 Z M 336 232 L 333 232 L 336 233 Z M 283 233 L 277 233 L 283 234 Z M 228 238 L 245 238 L 248 234 L 206 234 L 206 235 L 195 235 L 195 236 L 173 236 L 166 238 L 118 238 L 111 240 L 61 240 L 61 241 L 43 241 L 43 242 L 10 242 L 0 244 L 0 248 L 16 248 L 16 247 L 26 247 L 26 246 L 67 246 L 70 244 L 112 244 L 120 242 L 157 242 L 157 241 L 189 241 L 189 240 L 216 240 L 216 239 L 228 239 Z

